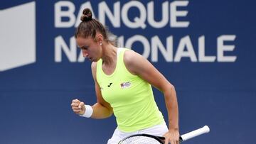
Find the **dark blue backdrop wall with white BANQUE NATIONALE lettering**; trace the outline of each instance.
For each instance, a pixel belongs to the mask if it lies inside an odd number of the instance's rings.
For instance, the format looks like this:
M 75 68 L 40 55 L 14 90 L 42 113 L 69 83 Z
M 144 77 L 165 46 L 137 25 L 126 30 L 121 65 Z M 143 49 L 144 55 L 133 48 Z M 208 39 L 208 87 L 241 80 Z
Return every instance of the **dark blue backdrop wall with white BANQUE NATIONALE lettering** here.
M 31 11 L 35 7 L 36 60 L 6 69 L 9 59 L 1 57 L 22 59 L 28 54 L 20 45 L 28 38 L 27 29 L 22 37 L 4 39 L 15 37 L 14 27 L 23 30 L 19 23 L 27 21 L 24 11 L 8 11 L 26 4 L 31 4 Z M 100 144 L 112 135 L 114 116 L 82 118 L 70 108 L 72 99 L 87 104 L 96 100 L 90 62 L 80 57 L 73 38 L 83 6 L 91 6 L 120 46 L 144 55 L 174 84 L 181 134 L 210 127 L 210 133 L 186 143 L 254 143 L 255 4 L 252 0 L 2 0 L 0 39 L 12 46 L 0 43 L 0 143 Z M 3 24 L 11 20 L 16 21 Z M 164 96 L 156 89 L 154 94 L 167 120 Z

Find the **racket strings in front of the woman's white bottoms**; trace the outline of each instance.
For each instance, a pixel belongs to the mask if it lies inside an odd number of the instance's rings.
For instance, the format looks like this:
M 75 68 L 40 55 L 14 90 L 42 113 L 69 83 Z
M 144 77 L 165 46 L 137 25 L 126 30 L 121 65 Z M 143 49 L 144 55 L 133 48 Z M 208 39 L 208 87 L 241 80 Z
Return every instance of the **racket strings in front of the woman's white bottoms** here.
M 158 140 L 155 138 L 150 138 L 146 136 L 132 136 L 130 138 L 126 138 L 122 140 L 119 144 L 161 144 Z

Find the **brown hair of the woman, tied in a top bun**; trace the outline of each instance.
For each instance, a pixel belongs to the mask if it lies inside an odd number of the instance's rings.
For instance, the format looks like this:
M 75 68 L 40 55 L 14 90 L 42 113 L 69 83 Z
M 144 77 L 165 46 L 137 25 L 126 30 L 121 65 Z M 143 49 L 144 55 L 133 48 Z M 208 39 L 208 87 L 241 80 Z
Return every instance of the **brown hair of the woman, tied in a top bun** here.
M 106 40 L 107 43 L 115 45 L 116 42 L 109 39 L 109 35 L 112 33 L 110 33 L 108 29 L 105 28 L 102 23 L 100 23 L 100 21 L 92 18 L 92 11 L 90 9 L 86 8 L 82 11 L 80 20 L 82 22 L 79 24 L 75 31 L 75 38 L 78 38 L 78 36 L 82 36 L 83 38 L 88 38 L 89 36 L 91 38 L 95 38 L 96 33 L 99 32 L 102 34 L 104 40 Z

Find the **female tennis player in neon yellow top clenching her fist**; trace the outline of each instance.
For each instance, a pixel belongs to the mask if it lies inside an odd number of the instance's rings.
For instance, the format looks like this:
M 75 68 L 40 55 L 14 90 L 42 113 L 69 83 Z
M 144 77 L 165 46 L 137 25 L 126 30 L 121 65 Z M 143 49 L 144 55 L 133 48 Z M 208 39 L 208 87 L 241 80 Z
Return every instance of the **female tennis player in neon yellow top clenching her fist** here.
M 117 128 L 108 144 L 123 138 L 146 133 L 164 136 L 165 143 L 178 143 L 178 103 L 174 86 L 142 55 L 126 48 L 117 48 L 109 40 L 107 30 L 90 9 L 84 9 L 75 32 L 82 55 L 92 61 L 97 102 L 85 105 L 74 99 L 72 109 L 87 118 L 116 117 Z M 169 128 L 154 100 L 151 85 L 164 94 Z

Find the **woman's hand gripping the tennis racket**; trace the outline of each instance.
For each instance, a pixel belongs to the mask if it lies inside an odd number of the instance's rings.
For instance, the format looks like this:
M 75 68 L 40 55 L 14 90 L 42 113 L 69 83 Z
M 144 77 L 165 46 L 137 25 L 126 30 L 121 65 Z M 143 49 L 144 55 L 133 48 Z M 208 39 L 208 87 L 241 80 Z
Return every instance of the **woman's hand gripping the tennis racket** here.
M 169 130 L 166 134 L 164 134 L 165 144 L 178 144 L 179 143 L 179 133 L 178 129 Z

